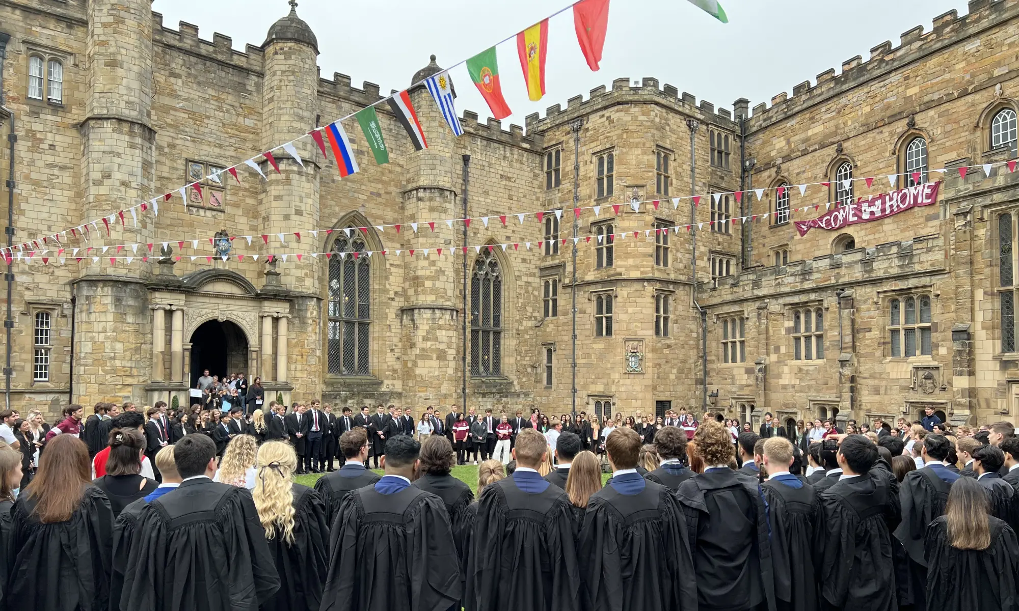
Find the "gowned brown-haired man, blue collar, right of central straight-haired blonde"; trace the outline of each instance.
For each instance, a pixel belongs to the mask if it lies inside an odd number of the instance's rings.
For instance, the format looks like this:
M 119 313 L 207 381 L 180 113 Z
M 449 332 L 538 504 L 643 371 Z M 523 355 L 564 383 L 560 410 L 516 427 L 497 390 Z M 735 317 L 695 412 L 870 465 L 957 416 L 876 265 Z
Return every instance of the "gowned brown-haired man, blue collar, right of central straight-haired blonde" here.
M 605 440 L 612 482 L 588 500 L 577 541 L 584 609 L 697 609 L 683 506 L 637 474 L 642 441 L 626 428 Z

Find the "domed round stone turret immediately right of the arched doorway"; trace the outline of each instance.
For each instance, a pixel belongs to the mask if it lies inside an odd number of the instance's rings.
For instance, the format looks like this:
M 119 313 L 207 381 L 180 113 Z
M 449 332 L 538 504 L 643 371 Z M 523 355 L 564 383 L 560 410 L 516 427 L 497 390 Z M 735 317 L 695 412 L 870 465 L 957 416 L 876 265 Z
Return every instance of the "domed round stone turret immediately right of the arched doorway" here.
M 270 151 L 273 147 L 282 145 L 302 136 L 314 127 L 318 110 L 318 40 L 312 29 L 298 16 L 298 3 L 290 0 L 290 12 L 269 29 L 263 48 L 265 50 L 265 76 L 262 85 L 262 148 Z M 262 182 L 261 192 L 261 228 L 262 233 L 272 239 L 263 245 L 265 254 L 273 253 L 317 253 L 318 240 L 312 238 L 311 231 L 319 227 L 319 170 L 321 158 L 316 152 L 314 141 L 310 137 L 294 143 L 294 148 L 302 158 L 304 167 L 293 160 L 285 151 L 272 151 L 280 173 L 272 166 L 262 163 L 262 171 L 268 180 Z M 279 242 L 277 233 L 300 232 L 299 242 L 293 235 L 286 235 L 286 243 Z M 287 349 L 289 338 L 294 336 L 290 327 L 311 329 L 318 320 L 318 295 L 320 292 L 321 266 L 298 264 L 293 259 L 289 263 L 280 262 L 277 270 L 281 287 L 291 293 L 298 293 L 293 307 L 289 312 L 277 312 L 276 307 L 262 313 L 263 344 L 267 339 L 275 338 L 275 350 L 262 346 L 263 380 L 272 380 L 277 384 L 297 382 L 307 387 L 310 392 L 317 392 L 321 375 L 321 345 L 318 343 L 305 346 L 303 353 L 308 354 L 305 368 L 300 372 L 302 378 L 291 378 L 299 372 L 287 369 L 287 354 L 296 346 Z M 273 275 L 266 277 L 270 290 L 277 287 L 271 284 Z M 292 319 L 290 318 L 292 317 Z M 265 360 L 275 353 L 275 367 Z M 272 372 L 273 375 L 268 375 Z M 314 389 L 314 390 L 313 390 Z

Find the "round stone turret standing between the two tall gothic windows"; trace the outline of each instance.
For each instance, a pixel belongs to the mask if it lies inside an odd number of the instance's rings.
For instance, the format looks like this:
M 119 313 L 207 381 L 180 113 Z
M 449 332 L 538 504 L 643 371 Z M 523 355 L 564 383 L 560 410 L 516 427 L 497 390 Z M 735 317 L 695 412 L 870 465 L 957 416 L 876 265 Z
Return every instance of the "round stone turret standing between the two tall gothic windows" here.
M 420 82 L 442 68 L 435 56 L 418 70 L 411 80 Z M 421 127 L 428 137 L 428 148 L 410 149 L 405 174 L 404 227 L 419 223 L 418 231 L 406 231 L 404 248 L 415 249 L 404 265 L 407 306 L 403 309 L 404 380 L 442 380 L 429 388 L 432 394 L 420 395 L 416 387 L 404 388 L 404 400 L 460 403 L 461 371 L 461 286 L 463 252 L 451 248 L 463 243 L 463 225 L 450 228 L 439 221 L 434 231 L 425 220 L 463 217 L 460 200 L 463 185 L 463 160 L 457 154 L 455 136 L 442 118 L 438 107 L 424 86 L 410 90 L 411 101 Z M 410 147 L 409 147 L 410 148 Z M 436 247 L 442 247 L 438 255 Z M 427 257 L 424 248 L 429 248 Z M 473 254 L 473 251 L 469 253 Z M 439 389 L 438 393 L 434 391 Z

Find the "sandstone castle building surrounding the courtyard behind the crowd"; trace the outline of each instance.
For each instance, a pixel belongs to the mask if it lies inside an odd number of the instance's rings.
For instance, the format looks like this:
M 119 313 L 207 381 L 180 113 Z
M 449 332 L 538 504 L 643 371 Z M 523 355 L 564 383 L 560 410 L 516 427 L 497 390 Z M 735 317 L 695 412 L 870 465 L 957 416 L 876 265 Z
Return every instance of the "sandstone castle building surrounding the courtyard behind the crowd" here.
M 461 403 L 466 367 L 469 405 L 561 413 L 576 293 L 578 410 L 707 407 L 755 423 L 768 410 L 785 423 L 894 421 L 930 405 L 956 424 L 1015 419 L 1019 174 L 954 168 L 1016 158 L 1017 25 L 1019 0 L 973 0 L 967 15 L 940 15 L 752 111 L 622 78 L 529 116 L 526 131 L 463 111 L 454 137 L 428 92 L 412 89 L 427 150 L 382 105 L 386 165 L 348 125 L 352 177 L 305 138 L 303 167 L 278 155 L 280 173 L 262 164 L 267 180 L 242 167 L 240 184 L 205 182 L 186 207 L 175 197 L 138 226 L 61 244 L 157 244 L 146 262 L 143 249 L 129 265 L 54 265 L 52 243 L 48 265 L 15 262 L 11 404 L 185 402 L 208 368 L 259 376 L 286 400 L 418 410 Z M 242 53 L 222 35 L 165 26 L 147 0 L 4 0 L 0 49 L 0 120 L 17 135 L 15 243 L 176 189 L 381 96 L 321 77 L 315 34 L 294 10 Z M 408 85 L 439 69 L 433 58 Z M 8 161 L 4 147 L 0 168 Z M 935 205 L 798 237 L 791 221 L 887 191 L 890 174 L 908 186 L 913 172 L 942 181 Z M 864 177 L 877 178 L 846 188 Z M 729 195 L 669 202 L 704 193 Z M 662 205 L 635 212 L 633 198 Z M 575 206 L 600 214 L 574 223 Z M 464 243 L 463 223 L 407 229 L 465 207 L 491 217 L 470 225 L 468 244 L 519 244 L 469 248 L 466 287 L 465 257 L 448 251 Z M 550 211 L 541 223 L 516 220 L 537 210 Z M 691 220 L 691 231 L 654 231 Z M 405 229 L 375 228 L 394 224 Z M 220 230 L 303 239 L 237 239 L 244 261 L 210 263 Z M 177 252 L 182 239 L 199 252 Z M 167 240 L 174 253 L 160 259 Z M 375 254 L 264 257 L 353 251 Z

